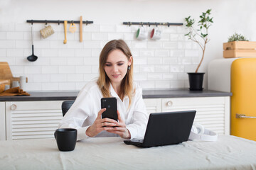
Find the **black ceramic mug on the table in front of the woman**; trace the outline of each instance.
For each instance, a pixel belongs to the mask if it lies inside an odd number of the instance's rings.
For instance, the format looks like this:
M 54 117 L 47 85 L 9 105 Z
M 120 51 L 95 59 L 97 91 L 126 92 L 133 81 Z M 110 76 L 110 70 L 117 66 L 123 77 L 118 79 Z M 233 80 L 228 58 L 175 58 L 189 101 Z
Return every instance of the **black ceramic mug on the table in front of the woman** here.
M 55 139 L 60 151 L 73 151 L 78 137 L 78 130 L 63 128 L 55 130 Z

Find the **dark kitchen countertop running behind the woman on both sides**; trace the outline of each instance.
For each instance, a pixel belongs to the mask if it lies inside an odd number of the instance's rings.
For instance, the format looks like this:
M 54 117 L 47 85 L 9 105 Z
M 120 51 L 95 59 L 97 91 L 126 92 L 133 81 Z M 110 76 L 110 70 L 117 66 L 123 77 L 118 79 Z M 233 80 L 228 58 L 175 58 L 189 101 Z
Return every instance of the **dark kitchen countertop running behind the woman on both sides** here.
M 31 96 L 0 96 L 0 101 L 64 101 L 75 100 L 79 91 L 28 91 Z M 189 91 L 178 90 L 144 90 L 143 98 L 185 98 L 185 97 L 215 97 L 232 96 L 223 91 Z

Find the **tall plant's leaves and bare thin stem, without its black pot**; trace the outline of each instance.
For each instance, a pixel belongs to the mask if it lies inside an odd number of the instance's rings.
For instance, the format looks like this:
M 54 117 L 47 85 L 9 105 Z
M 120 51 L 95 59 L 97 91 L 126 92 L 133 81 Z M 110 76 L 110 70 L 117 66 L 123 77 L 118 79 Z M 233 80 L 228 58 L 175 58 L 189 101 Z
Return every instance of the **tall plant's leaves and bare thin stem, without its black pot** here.
M 210 18 L 210 11 L 211 9 L 208 9 L 206 12 L 203 12 L 201 16 L 199 16 L 201 19 L 200 21 L 198 21 L 199 29 L 194 28 L 194 23 L 196 21 L 191 18 L 191 16 L 185 18 L 186 28 L 188 28 L 189 30 L 189 32 L 185 34 L 185 36 L 188 36 L 188 39 L 198 43 L 198 45 L 203 50 L 203 55 L 201 57 L 201 61 L 198 64 L 198 67 L 196 68 L 196 72 L 198 72 L 201 63 L 203 62 L 203 57 L 206 51 L 206 43 L 210 40 L 208 35 L 208 28 L 211 26 L 211 23 L 213 23 L 213 18 Z M 203 42 L 198 40 L 198 37 L 201 38 Z

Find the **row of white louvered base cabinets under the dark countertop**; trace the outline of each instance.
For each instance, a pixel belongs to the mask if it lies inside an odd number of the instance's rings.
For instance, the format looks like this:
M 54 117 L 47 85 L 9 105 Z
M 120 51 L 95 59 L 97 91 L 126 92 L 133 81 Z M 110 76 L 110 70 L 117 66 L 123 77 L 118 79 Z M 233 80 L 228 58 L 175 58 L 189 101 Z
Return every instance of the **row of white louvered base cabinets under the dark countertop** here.
M 63 101 L 0 102 L 0 140 L 53 138 Z M 144 98 L 147 113 L 196 110 L 195 122 L 230 134 L 230 97 Z

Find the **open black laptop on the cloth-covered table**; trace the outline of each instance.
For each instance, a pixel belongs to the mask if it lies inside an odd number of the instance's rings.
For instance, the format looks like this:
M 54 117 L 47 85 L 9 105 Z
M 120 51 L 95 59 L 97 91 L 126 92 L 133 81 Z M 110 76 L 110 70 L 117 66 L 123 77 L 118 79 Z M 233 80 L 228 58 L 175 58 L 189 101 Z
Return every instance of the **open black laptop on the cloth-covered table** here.
M 144 139 L 124 140 L 127 145 L 156 147 L 188 140 L 196 111 L 151 113 Z

